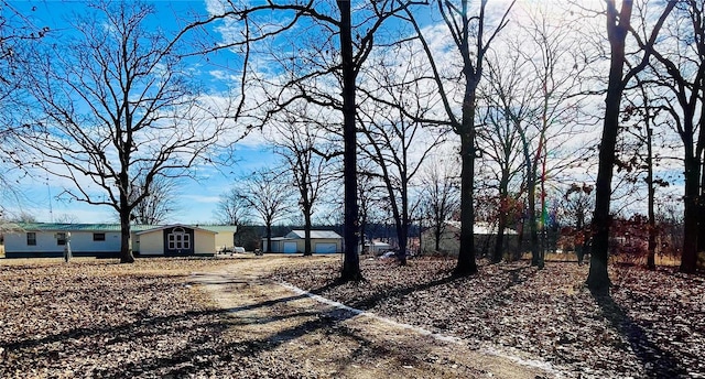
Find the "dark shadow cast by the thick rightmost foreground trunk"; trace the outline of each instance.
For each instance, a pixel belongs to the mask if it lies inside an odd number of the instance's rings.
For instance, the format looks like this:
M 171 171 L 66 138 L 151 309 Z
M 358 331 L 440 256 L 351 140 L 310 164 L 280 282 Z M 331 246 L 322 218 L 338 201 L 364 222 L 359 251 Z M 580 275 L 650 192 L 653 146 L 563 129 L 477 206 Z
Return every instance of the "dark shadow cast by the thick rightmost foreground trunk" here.
M 611 295 L 601 292 L 593 292 L 592 295 L 603 310 L 604 317 L 627 339 L 649 378 L 687 377 L 682 362 L 653 343 L 649 338 L 649 332 L 637 324 Z

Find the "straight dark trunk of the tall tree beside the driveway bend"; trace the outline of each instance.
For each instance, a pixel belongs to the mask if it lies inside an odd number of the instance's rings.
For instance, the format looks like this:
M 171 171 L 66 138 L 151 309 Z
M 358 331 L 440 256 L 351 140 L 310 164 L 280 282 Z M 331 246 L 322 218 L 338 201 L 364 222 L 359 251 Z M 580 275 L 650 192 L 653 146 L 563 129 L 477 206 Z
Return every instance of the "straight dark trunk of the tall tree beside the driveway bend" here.
M 345 259 L 340 279 L 358 281 L 360 256 L 358 255 L 358 205 L 357 205 L 357 130 L 355 124 L 355 66 L 352 61 L 352 26 L 350 1 L 337 0 L 340 10 L 340 56 L 343 67 L 343 178 L 345 192 Z

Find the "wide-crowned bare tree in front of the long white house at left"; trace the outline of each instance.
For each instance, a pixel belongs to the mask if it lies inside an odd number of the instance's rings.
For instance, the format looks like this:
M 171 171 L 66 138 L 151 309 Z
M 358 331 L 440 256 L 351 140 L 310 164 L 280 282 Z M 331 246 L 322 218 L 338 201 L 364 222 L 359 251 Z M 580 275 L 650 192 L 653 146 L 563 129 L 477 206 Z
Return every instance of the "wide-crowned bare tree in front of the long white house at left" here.
M 185 31 L 169 40 L 148 29 L 152 6 L 91 7 L 95 13 L 74 18 L 70 39 L 34 58 L 28 75 L 35 121 L 25 145 L 39 156 L 31 163 L 73 182 L 62 196 L 119 214 L 120 261 L 132 262 L 135 206 L 158 176 L 189 174 L 227 131 L 217 115 L 228 110 L 193 85 L 180 46 Z M 134 187 L 143 191 L 131 197 Z

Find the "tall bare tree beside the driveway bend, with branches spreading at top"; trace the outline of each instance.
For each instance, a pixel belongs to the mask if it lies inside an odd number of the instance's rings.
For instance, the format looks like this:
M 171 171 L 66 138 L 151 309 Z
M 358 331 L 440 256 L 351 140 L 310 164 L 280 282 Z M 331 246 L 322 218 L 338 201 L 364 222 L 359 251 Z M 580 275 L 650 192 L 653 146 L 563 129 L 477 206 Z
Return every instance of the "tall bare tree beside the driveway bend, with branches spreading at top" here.
M 282 54 L 282 45 L 275 45 L 272 57 L 291 76 L 279 83 L 281 90 L 273 102 L 264 108 L 273 115 L 286 108 L 296 99 L 333 109 L 339 120 L 337 133 L 343 136 L 343 176 L 344 176 L 344 240 L 345 259 L 341 269 L 343 280 L 360 280 L 358 240 L 359 229 L 357 204 L 357 128 L 356 128 L 356 88 L 360 67 L 366 63 L 376 44 L 376 35 L 387 20 L 394 18 L 415 1 L 381 0 L 365 3 L 352 11 L 349 0 L 329 1 L 282 1 L 256 3 L 253 6 L 228 3 L 228 8 L 214 20 L 250 20 L 262 28 L 257 35 L 250 35 L 252 42 L 304 41 L 315 40 L 311 48 L 296 48 Z M 280 23 L 272 23 L 276 17 Z M 267 25 L 267 28 L 263 28 Z M 303 29 L 294 28 L 304 25 Z M 289 45 L 286 46 L 289 50 Z M 280 76 L 282 77 L 282 76 Z M 271 85 L 272 83 L 268 83 Z M 338 95 L 339 94 L 339 95 Z M 268 99 L 269 101 L 270 99 Z

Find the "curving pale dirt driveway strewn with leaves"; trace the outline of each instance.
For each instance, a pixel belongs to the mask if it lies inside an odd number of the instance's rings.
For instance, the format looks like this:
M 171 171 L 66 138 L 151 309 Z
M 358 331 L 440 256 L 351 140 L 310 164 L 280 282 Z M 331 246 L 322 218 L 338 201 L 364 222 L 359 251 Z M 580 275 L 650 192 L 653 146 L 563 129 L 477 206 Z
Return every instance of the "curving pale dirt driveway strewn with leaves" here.
M 319 378 L 553 378 L 556 373 L 463 340 L 433 335 L 265 279 L 283 264 L 338 257 L 247 257 L 194 273 L 216 306 L 227 310 L 235 340 L 265 340 L 275 356 Z M 443 310 L 438 310 L 443 312 Z

